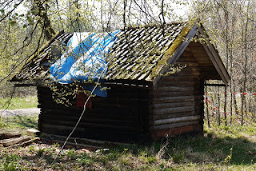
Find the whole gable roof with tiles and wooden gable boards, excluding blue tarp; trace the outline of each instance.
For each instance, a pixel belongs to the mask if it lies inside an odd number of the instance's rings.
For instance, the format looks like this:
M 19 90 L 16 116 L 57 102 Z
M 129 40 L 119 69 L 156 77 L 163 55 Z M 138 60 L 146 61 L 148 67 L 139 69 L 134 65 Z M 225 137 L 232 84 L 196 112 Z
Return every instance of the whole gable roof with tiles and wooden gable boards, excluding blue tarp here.
M 72 34 L 58 34 L 48 42 L 38 55 L 30 58 L 22 70 L 14 76 L 12 81 L 49 78 L 49 66 L 46 61 L 54 54 L 54 47 L 66 45 Z M 171 64 L 174 64 L 181 54 L 189 48 L 192 38 L 203 36 L 208 38 L 202 26 L 190 25 L 186 22 L 176 22 L 164 26 L 132 27 L 122 30 L 118 34 L 118 41 L 114 43 L 107 58 L 109 62 L 106 81 L 134 81 L 153 82 L 154 87 L 161 81 Z M 210 58 L 210 65 L 214 66 L 220 77 L 227 85 L 230 76 L 214 46 L 206 41 L 200 46 Z M 65 46 L 64 46 L 65 47 Z M 65 49 L 65 48 L 64 48 Z M 193 53 L 193 50 L 191 51 Z M 46 60 L 47 59 L 47 60 Z M 54 61 L 53 61 L 54 62 Z M 44 64 L 45 63 L 45 64 Z M 210 79 L 210 78 L 206 78 Z

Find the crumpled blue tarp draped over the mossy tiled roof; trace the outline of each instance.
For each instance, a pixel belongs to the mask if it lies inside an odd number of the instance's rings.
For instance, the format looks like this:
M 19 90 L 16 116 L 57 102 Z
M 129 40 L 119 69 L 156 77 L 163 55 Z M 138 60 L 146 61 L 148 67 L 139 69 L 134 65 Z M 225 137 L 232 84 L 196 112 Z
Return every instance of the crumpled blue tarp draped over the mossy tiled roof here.
M 74 33 L 67 43 L 67 50 L 52 66 L 51 78 L 61 84 L 72 82 L 97 81 L 106 74 L 106 54 L 117 40 L 120 30 L 112 33 L 90 34 Z M 105 71 L 104 71 L 105 70 Z M 105 72 L 102 74 L 102 72 Z M 85 85 L 84 89 L 92 90 L 94 85 Z M 94 94 L 106 97 L 106 89 L 97 88 Z

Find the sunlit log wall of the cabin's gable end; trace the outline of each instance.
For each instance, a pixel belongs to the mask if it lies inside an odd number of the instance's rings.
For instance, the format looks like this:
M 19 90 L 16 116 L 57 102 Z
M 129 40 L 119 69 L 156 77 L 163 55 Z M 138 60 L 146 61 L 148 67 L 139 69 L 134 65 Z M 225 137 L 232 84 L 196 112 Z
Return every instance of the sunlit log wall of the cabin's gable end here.
M 186 52 L 176 62 L 186 65 L 176 74 L 162 78 L 150 91 L 150 134 L 158 139 L 166 134 L 202 133 L 203 80 L 198 62 Z

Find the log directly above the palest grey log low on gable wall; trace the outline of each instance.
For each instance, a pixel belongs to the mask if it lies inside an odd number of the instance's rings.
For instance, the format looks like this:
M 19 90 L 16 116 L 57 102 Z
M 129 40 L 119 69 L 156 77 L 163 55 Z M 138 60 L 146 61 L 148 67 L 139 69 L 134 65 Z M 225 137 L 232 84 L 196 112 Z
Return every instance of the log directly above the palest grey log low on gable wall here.
M 170 113 L 182 113 L 182 112 L 190 112 L 194 110 L 200 109 L 201 105 L 189 105 L 189 106 L 182 106 L 182 107 L 173 107 L 173 108 L 166 108 L 166 109 L 154 109 L 154 115 L 160 114 L 170 114 Z

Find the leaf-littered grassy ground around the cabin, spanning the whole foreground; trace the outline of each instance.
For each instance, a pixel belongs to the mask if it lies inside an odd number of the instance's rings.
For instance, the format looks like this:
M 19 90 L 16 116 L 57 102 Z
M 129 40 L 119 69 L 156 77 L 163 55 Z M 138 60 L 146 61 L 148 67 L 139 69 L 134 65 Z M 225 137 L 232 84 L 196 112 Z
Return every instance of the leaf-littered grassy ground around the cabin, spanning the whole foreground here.
M 36 127 L 37 117 L 10 118 L 10 129 Z M 148 145 L 65 149 L 58 144 L 0 147 L 0 170 L 255 170 L 256 124 L 205 126 L 204 136 L 170 137 Z

